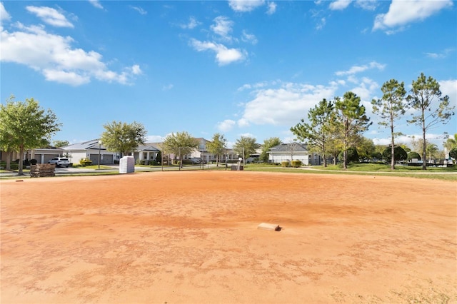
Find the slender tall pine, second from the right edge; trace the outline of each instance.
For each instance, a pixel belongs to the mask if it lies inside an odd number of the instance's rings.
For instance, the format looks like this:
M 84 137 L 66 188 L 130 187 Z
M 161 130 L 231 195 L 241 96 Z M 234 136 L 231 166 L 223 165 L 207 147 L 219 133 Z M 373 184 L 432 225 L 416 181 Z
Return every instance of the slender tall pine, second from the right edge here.
M 405 83 L 398 83 L 395 79 L 391 79 L 383 84 L 381 87 L 383 96 L 381 99 L 371 101 L 373 105 L 373 113 L 378 114 L 381 118 L 379 124 L 386 126 L 391 130 L 391 169 L 395 169 L 394 147 L 395 138 L 401 135 L 395 132 L 395 121 L 401 118 L 406 112 L 408 104 L 406 103 L 405 96 Z

